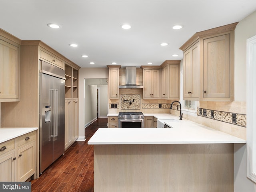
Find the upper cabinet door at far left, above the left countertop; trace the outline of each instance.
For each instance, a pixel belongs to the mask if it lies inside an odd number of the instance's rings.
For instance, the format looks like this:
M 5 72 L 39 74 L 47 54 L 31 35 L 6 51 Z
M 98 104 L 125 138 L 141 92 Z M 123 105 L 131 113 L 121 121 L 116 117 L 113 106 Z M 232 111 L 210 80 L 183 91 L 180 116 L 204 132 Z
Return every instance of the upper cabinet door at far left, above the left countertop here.
M 19 48 L 0 40 L 0 102 L 19 101 Z

